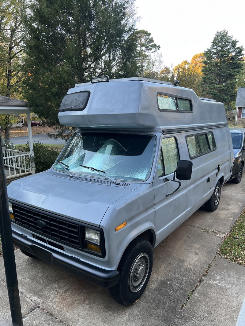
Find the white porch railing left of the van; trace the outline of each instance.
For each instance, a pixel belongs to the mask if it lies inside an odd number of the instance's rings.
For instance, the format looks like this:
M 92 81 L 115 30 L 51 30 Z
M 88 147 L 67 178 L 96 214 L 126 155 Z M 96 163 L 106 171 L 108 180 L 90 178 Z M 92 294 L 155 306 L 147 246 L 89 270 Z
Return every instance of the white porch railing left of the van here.
M 8 176 L 19 176 L 20 174 L 32 174 L 35 173 L 31 160 L 31 153 L 24 153 L 15 149 L 4 149 L 3 161 L 5 166 L 5 173 L 8 170 Z

